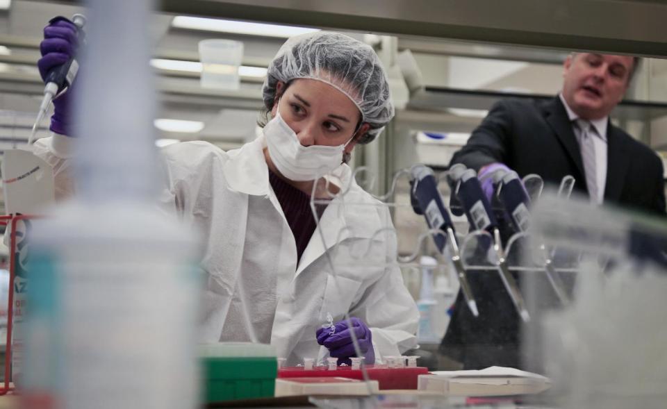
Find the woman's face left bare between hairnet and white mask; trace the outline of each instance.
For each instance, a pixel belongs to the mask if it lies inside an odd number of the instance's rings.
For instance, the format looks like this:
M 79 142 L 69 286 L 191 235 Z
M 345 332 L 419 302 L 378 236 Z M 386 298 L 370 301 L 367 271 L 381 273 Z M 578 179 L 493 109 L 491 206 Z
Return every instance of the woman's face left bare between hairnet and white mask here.
M 300 78 L 292 81 L 286 90 L 285 85 L 279 83 L 277 94 L 282 95 L 274 103 L 271 114 L 275 116 L 279 106 L 280 116 L 304 147 L 345 144 L 361 120 L 356 105 L 343 92 L 322 81 Z M 354 144 L 356 140 L 350 141 L 345 151 L 352 151 Z

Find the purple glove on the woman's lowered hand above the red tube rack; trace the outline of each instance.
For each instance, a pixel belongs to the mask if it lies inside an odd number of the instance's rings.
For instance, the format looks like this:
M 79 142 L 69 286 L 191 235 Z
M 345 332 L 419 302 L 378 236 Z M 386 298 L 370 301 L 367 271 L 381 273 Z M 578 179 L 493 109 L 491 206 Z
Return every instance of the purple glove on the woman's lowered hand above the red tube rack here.
M 359 318 L 351 317 L 350 321 L 352 321 L 352 331 L 356 335 L 356 340 L 359 341 L 359 350 L 363 353 L 364 362 L 367 364 L 374 363 L 375 351 L 370 328 Z M 345 319 L 336 322 L 334 328 L 336 328 L 334 335 L 330 335 L 331 328 L 318 329 L 318 344 L 329 349 L 329 356 L 338 358 L 338 365 L 351 365 L 352 362 L 349 357 L 356 356 L 354 344 L 352 344 L 352 335 L 350 335 L 351 328 L 347 326 L 347 320 Z

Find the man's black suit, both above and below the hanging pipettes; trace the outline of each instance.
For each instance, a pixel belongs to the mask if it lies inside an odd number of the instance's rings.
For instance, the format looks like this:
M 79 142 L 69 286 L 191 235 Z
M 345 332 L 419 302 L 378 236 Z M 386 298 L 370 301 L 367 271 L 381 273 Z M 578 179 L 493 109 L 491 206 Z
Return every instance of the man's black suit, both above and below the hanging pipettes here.
M 607 126 L 607 147 L 604 201 L 664 215 L 662 161 L 658 156 L 611 124 Z M 459 162 L 478 171 L 489 163 L 502 162 L 520 176 L 539 174 L 545 182 L 555 184 L 563 176 L 572 175 L 577 180 L 577 190 L 588 194 L 579 144 L 558 97 L 549 101 L 496 103 L 468 144 L 452 158 L 452 164 Z M 519 274 L 514 276 L 521 281 Z M 568 287 L 573 285 L 573 277 L 562 278 L 567 278 Z M 469 274 L 468 280 L 477 296 L 479 317 L 472 316 L 459 292 L 440 351 L 463 363 L 466 369 L 492 365 L 524 367 L 520 318 L 500 276 L 490 270 Z M 538 284 L 545 286 L 539 292 L 545 294 L 540 303 L 557 305 L 546 280 Z

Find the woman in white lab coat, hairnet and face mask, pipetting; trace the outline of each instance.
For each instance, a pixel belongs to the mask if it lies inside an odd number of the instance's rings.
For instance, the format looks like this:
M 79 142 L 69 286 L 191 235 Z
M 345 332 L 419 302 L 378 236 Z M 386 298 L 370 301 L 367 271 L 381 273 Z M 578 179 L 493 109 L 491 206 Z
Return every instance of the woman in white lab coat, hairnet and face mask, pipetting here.
M 63 39 L 75 48 L 59 24 L 51 37 L 44 31 L 40 72 L 56 65 Z M 58 44 L 49 47 L 51 38 Z M 338 33 L 292 37 L 268 68 L 263 99 L 270 120 L 240 149 L 184 142 L 162 150 L 160 207 L 206 243 L 203 341 L 270 343 L 291 365 L 355 356 L 350 331 L 368 363 L 415 347 L 418 312 L 395 265 L 395 235 L 381 234 L 393 228 L 388 210 L 345 164 L 394 115 L 377 55 Z M 35 144 L 63 185 L 64 122 L 52 119 L 53 136 Z M 313 192 L 324 203 L 317 217 Z M 368 249 L 363 263 L 359 249 Z M 334 326 L 322 328 L 327 321 Z

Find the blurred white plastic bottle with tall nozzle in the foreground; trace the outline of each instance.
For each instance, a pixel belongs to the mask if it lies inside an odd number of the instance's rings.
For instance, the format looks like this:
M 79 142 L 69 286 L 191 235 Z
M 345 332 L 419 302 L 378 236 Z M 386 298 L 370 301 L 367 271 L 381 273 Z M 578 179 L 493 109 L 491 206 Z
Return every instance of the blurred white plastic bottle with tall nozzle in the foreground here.
M 22 404 L 195 408 L 195 253 L 154 205 L 151 4 L 89 5 L 77 197 L 35 222 Z

